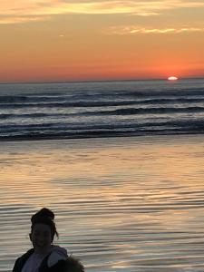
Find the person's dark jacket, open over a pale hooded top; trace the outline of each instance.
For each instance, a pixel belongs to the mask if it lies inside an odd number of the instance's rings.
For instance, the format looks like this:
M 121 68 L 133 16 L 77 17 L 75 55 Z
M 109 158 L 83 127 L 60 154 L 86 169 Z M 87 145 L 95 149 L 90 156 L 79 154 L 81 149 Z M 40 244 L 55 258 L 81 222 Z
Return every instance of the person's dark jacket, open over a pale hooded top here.
M 13 272 L 21 272 L 26 260 L 34 253 L 34 249 L 28 250 L 22 257 L 18 257 L 15 261 L 15 267 L 13 268 Z M 66 261 L 61 259 L 53 267 L 48 267 L 47 261 L 48 256 L 44 257 L 41 266 L 39 267 L 39 272 L 64 272 L 66 267 Z

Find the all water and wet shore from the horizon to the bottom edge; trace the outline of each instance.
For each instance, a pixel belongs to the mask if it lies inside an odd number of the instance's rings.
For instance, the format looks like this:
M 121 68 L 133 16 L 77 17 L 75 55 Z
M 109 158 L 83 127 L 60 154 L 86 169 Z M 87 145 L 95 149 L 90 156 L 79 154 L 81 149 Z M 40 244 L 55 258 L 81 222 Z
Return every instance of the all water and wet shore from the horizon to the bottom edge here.
M 43 207 L 85 271 L 203 271 L 204 80 L 0 90 L 0 272 Z

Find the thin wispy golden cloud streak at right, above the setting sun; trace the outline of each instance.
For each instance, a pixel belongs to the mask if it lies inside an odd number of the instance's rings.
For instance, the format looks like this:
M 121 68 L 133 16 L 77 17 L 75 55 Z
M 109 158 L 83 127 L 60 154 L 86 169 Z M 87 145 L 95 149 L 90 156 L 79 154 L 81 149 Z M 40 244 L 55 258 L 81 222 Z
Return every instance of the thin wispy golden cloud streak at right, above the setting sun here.
M 204 32 L 204 27 L 181 27 L 181 28 L 145 28 L 140 26 L 112 26 L 107 34 L 133 35 L 133 34 L 180 34 L 190 32 Z

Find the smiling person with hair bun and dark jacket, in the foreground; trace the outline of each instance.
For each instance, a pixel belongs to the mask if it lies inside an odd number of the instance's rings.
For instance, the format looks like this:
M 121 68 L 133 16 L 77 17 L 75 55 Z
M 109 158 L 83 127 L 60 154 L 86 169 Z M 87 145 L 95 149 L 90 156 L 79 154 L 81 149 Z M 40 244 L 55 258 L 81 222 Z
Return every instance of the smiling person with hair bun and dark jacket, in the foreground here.
M 53 245 L 58 232 L 51 209 L 40 209 L 31 218 L 33 248 L 15 261 L 13 272 L 83 272 L 81 262 L 68 257 L 67 250 Z

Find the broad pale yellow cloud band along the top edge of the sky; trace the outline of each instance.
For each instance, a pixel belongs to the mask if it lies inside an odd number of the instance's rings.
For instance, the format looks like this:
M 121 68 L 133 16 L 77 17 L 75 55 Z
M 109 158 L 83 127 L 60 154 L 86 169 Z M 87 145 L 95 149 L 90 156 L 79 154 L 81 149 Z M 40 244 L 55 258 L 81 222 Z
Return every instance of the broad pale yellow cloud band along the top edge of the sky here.
M 0 0 L 0 24 L 31 21 L 29 16 L 42 20 L 41 16 L 87 14 L 87 15 L 159 15 L 165 10 L 204 7 L 203 0 Z M 3 16 L 3 17 L 2 17 Z M 13 20 L 11 19 L 13 16 Z M 24 17 L 26 16 L 26 17 Z

